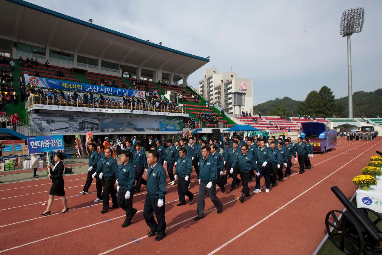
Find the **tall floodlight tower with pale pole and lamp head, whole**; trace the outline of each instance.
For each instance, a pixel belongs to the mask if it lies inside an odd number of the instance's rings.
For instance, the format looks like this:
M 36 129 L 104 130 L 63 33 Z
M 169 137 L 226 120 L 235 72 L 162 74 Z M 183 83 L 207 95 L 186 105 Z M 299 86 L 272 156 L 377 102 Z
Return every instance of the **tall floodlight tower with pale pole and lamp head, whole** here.
M 351 84 L 351 51 L 350 51 L 350 36 L 353 33 L 362 31 L 363 21 L 365 18 L 365 8 L 351 8 L 343 11 L 340 34 L 342 37 L 348 38 L 348 101 L 349 101 L 349 118 L 353 118 L 353 90 Z

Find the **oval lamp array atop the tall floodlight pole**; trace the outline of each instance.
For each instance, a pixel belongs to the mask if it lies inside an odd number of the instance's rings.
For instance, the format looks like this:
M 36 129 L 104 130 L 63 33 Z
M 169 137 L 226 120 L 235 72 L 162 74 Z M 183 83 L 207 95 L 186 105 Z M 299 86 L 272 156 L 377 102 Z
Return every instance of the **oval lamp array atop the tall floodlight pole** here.
M 351 8 L 343 11 L 340 24 L 340 34 L 343 35 L 342 37 L 361 32 L 364 18 L 364 7 Z

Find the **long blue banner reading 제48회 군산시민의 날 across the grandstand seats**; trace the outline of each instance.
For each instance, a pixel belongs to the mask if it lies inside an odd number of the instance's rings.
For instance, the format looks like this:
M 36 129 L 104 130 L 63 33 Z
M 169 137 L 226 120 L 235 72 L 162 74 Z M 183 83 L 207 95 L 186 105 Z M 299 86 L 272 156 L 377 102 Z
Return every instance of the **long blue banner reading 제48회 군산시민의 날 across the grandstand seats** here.
M 141 90 L 127 90 L 125 88 L 112 88 L 106 86 L 92 85 L 86 83 L 78 82 L 67 82 L 63 80 L 53 80 L 49 78 L 35 77 L 35 76 L 26 76 L 26 82 L 36 87 L 43 88 L 56 88 L 59 90 L 77 90 L 77 92 L 91 92 L 94 90 L 94 93 L 104 93 L 107 95 L 115 96 L 136 96 L 139 98 L 145 97 L 145 92 Z

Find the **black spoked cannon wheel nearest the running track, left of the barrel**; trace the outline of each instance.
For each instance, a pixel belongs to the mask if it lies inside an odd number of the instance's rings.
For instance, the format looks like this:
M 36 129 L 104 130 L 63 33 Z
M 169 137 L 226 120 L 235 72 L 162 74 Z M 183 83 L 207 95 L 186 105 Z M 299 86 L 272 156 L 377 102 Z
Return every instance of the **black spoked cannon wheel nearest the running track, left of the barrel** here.
M 364 239 L 361 229 L 350 214 L 339 210 L 330 211 L 326 214 L 325 226 L 329 240 L 343 253 L 357 255 L 363 251 Z

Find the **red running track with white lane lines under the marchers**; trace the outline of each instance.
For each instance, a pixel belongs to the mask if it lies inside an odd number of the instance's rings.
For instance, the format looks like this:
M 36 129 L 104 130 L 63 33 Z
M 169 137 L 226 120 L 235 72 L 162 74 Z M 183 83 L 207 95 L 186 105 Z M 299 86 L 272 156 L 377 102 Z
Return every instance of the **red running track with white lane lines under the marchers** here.
M 216 214 L 212 202 L 206 197 L 206 217 L 200 221 L 193 221 L 197 195 L 192 205 L 178 207 L 176 185 L 168 185 L 165 198 L 167 237 L 160 242 L 147 237 L 148 227 L 141 211 L 144 190 L 134 195 L 134 208 L 139 211 L 133 224 L 123 229 L 120 227 L 124 219 L 122 209 L 100 214 L 102 206 L 92 202 L 94 194 L 78 194 L 85 179 L 76 179 L 86 177 L 85 174 L 65 177 L 65 187 L 73 186 L 66 189 L 67 196 L 72 196 L 68 198 L 70 211 L 47 217 L 39 216 L 45 209 L 39 202 L 47 198 L 49 180 L 23 182 L 23 187 L 18 187 L 19 183 L 0 185 L 0 196 L 5 198 L 0 200 L 0 253 L 40 254 L 52 247 L 53 242 L 56 251 L 66 254 L 175 254 L 179 253 L 177 247 L 182 245 L 190 247 L 183 249 L 185 254 L 248 253 L 252 250 L 269 254 L 270 249 L 272 254 L 285 254 L 291 250 L 294 254 L 312 253 L 325 235 L 327 211 L 343 208 L 330 187 L 338 185 L 346 196 L 351 197 L 356 190 L 351 177 L 358 175 L 369 157 L 382 147 L 380 137 L 369 142 L 345 139 L 338 139 L 338 146 L 332 152 L 316 154 L 311 159 L 312 170 L 306 170 L 303 175 L 296 174 L 298 164 L 295 163 L 290 177 L 277 183 L 270 193 L 251 193 L 245 203 L 237 200 L 241 189 L 222 194 L 218 188 L 217 196 L 225 204 L 223 213 Z M 194 194 L 198 192 L 195 177 L 193 174 L 190 189 Z M 227 183 L 226 190 L 229 187 L 230 183 Z M 249 187 L 254 190 L 254 182 Z M 6 198 L 11 196 L 20 197 Z M 52 212 L 61 209 L 61 201 L 55 201 Z

